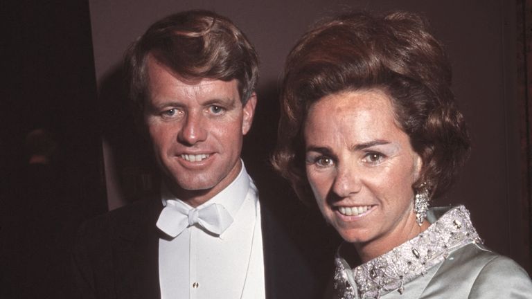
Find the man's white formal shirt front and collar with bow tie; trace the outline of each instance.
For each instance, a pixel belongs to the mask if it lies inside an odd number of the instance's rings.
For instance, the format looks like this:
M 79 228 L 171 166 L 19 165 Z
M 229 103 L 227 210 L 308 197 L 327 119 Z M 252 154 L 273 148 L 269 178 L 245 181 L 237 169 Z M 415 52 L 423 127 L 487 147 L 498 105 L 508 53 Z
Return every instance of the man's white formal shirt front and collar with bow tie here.
M 260 206 L 244 164 L 227 188 L 196 208 L 161 190 L 157 226 L 167 234 L 159 239 L 161 298 L 265 298 Z M 221 216 L 210 221 L 221 226 L 215 233 L 201 219 L 213 213 Z

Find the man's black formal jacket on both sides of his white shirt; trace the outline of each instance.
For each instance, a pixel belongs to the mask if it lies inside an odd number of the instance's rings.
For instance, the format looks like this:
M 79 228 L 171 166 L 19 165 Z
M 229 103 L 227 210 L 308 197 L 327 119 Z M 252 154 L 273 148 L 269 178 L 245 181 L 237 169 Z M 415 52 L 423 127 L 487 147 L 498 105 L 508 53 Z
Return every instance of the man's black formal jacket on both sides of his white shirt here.
M 161 298 L 155 226 L 161 209 L 159 198 L 141 199 L 82 225 L 73 246 L 74 298 Z M 322 298 L 319 262 L 301 253 L 289 226 L 262 200 L 261 216 L 266 298 Z

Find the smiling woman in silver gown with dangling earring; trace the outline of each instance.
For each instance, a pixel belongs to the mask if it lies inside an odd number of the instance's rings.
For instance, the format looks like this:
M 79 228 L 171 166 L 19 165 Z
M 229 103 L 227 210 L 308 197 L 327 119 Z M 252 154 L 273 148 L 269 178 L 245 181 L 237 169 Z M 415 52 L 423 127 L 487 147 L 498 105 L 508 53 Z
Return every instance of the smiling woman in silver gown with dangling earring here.
M 287 57 L 272 161 L 345 240 L 335 298 L 532 298 L 464 206 L 428 208 L 470 150 L 450 82 L 441 44 L 408 12 L 323 22 Z

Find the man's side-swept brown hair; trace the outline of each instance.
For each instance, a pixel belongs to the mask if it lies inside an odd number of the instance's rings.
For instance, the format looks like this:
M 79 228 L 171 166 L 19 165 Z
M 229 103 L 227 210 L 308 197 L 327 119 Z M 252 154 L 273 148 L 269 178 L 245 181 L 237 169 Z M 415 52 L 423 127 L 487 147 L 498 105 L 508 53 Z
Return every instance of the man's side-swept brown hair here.
M 148 54 L 185 80 L 238 80 L 242 105 L 255 91 L 258 56 L 231 20 L 208 10 L 189 10 L 154 23 L 125 53 L 130 98 L 142 112 L 148 97 Z

